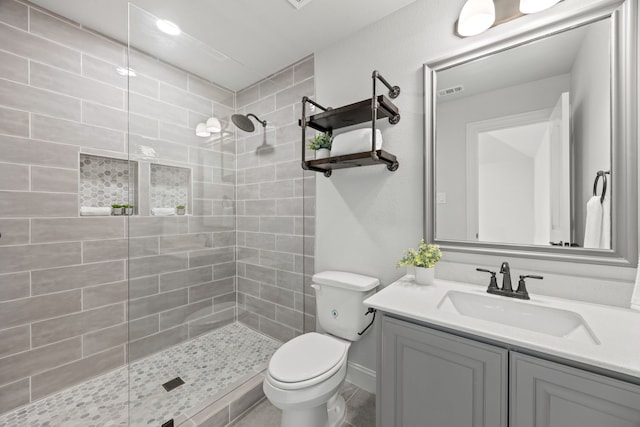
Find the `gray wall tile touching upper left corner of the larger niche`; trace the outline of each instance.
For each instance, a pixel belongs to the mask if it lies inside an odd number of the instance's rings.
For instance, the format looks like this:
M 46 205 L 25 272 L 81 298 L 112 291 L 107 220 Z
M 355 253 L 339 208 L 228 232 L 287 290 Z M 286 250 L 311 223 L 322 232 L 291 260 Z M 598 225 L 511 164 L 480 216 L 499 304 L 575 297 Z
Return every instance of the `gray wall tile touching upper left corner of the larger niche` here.
M 78 147 L 0 135 L 0 161 L 77 168 Z

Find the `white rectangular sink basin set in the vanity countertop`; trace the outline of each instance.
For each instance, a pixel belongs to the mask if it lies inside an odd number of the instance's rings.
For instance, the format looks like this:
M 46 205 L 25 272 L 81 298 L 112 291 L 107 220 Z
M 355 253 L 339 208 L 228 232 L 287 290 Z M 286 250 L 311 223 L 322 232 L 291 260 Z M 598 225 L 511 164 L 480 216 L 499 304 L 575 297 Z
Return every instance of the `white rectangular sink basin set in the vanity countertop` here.
M 582 316 L 569 310 L 461 291 L 447 292 L 438 309 L 556 337 L 600 344 Z

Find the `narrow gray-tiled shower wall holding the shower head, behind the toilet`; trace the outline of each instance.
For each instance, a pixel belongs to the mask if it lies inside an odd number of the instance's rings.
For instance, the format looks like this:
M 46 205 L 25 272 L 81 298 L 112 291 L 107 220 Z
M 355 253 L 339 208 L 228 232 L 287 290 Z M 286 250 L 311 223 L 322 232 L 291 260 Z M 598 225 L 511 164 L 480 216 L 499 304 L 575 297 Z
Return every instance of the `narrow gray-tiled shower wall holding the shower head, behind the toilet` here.
M 238 131 L 239 320 L 287 341 L 315 330 L 313 273 L 315 176 L 300 166 L 300 102 L 314 96 L 306 58 L 238 92 L 237 109 L 267 121 Z M 306 313 L 306 314 L 305 314 Z

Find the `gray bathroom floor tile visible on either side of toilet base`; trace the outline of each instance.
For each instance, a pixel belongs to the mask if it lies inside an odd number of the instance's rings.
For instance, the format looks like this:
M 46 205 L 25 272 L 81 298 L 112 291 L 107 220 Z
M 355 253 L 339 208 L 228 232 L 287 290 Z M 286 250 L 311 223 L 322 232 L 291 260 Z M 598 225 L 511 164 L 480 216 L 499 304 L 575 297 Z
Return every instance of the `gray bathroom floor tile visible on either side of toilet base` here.
M 376 396 L 345 382 L 341 390 L 347 402 L 347 415 L 342 427 L 374 427 Z M 253 407 L 232 427 L 280 427 L 281 413 L 267 399 Z

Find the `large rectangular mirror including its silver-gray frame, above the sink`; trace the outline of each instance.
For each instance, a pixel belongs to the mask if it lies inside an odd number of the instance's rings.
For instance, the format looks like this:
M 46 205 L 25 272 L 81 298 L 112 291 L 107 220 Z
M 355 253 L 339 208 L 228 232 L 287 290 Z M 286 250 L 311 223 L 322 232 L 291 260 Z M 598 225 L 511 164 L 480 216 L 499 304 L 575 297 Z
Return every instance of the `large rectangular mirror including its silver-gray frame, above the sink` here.
M 425 65 L 425 230 L 446 250 L 635 266 L 637 4 Z

